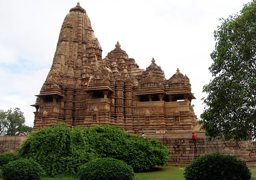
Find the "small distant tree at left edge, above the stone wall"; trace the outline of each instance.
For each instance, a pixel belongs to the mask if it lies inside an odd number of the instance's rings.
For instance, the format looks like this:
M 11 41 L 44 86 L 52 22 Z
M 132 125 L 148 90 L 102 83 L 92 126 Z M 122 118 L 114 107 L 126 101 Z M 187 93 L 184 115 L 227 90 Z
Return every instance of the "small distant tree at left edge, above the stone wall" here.
M 8 111 L 0 110 L 0 135 L 13 136 L 16 130 L 21 130 L 25 123 L 23 112 L 19 108 Z

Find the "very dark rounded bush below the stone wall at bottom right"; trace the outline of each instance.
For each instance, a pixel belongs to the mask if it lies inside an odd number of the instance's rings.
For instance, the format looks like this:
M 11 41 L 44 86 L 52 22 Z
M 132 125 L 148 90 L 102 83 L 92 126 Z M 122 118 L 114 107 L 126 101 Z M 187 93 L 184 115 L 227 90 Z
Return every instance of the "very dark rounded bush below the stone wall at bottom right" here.
M 215 153 L 196 158 L 187 166 L 184 177 L 186 180 L 250 180 L 251 172 L 238 158 Z

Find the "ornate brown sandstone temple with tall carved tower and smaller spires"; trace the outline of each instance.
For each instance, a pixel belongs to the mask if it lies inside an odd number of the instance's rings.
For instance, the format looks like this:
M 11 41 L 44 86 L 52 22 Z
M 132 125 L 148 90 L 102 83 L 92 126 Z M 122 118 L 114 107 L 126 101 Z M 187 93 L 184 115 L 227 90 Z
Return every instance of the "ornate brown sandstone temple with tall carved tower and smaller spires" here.
M 189 78 L 177 69 L 166 79 L 154 58 L 140 69 L 119 42 L 102 59 L 79 3 L 64 19 L 52 67 L 36 96 L 34 130 L 58 122 L 118 125 L 130 133 L 199 130 Z

